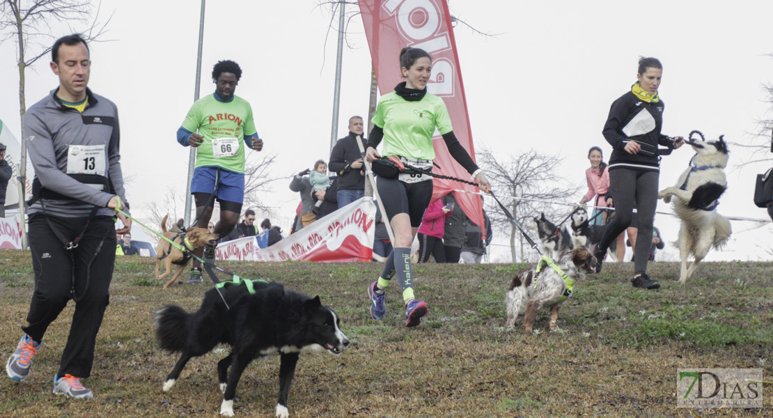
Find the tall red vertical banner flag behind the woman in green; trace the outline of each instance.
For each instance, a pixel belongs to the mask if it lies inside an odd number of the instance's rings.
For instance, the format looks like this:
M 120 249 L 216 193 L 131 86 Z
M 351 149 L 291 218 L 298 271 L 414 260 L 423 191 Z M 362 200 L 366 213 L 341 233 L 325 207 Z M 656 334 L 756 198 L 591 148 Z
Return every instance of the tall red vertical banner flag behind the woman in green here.
M 475 161 L 461 70 L 456 52 L 451 14 L 444 0 L 359 0 L 365 33 L 370 46 L 373 68 L 381 94 L 390 93 L 402 80 L 400 49 L 421 48 L 432 56 L 432 76 L 427 90 L 441 97 L 451 115 L 451 124 L 459 142 Z M 448 153 L 445 141 L 435 131 L 434 172 L 468 180 L 470 174 Z M 453 180 L 433 179 L 432 200 L 440 199 L 454 189 L 477 192 L 473 185 Z M 472 222 L 483 227 L 482 202 L 479 195 L 454 192 L 461 209 Z M 485 232 L 483 233 L 485 236 Z

